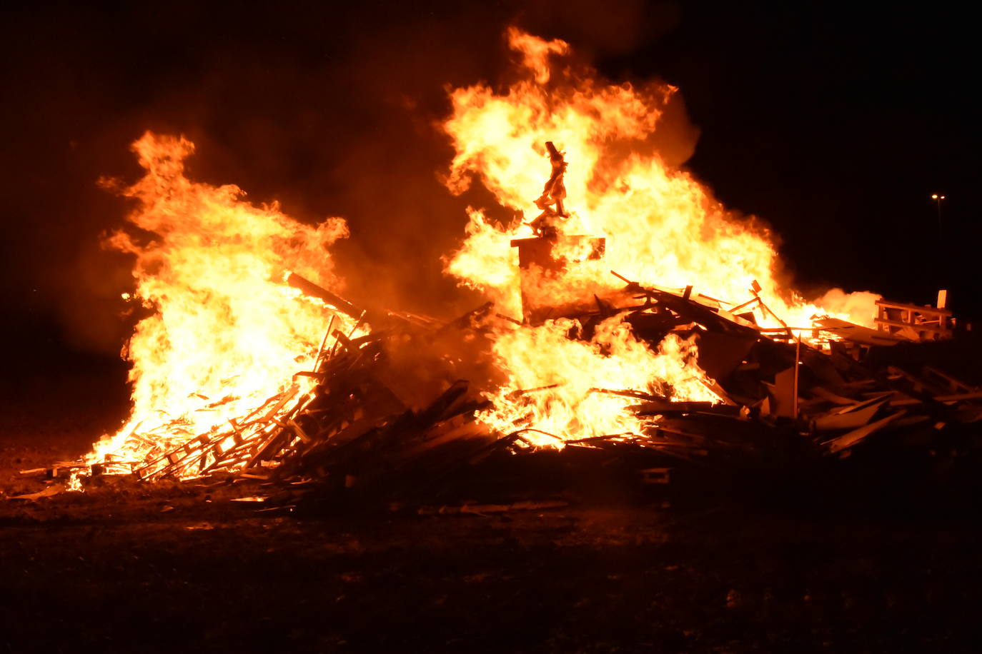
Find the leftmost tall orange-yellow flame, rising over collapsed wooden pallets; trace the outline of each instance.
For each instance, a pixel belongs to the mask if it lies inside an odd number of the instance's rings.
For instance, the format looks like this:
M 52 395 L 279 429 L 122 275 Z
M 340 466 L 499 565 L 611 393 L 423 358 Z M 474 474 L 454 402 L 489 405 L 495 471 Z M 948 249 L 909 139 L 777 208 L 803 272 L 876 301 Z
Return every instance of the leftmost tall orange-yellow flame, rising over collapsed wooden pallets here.
M 312 365 L 332 311 L 287 286 L 284 275 L 337 287 L 327 247 L 348 234 L 341 219 L 302 225 L 275 204 L 247 203 L 237 186 L 191 181 L 185 159 L 193 144 L 185 138 L 147 132 L 133 148 L 146 173 L 119 190 L 136 200 L 128 220 L 137 229 L 107 244 L 135 255 L 136 299 L 152 313 L 125 350 L 131 418 L 96 444 L 90 462 L 107 454 L 144 462 L 228 428 L 292 388 L 294 374 Z

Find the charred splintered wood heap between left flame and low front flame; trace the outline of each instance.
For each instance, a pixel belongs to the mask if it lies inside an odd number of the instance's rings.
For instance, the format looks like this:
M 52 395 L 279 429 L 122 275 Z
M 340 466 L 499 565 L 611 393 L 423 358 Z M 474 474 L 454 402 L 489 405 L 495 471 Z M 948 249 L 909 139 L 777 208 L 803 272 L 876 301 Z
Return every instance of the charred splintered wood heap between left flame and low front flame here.
M 358 325 L 366 318 L 366 312 L 302 277 L 294 275 L 289 282 L 332 302 L 357 318 Z M 379 314 L 373 321 L 381 327 L 357 338 L 356 329 L 346 334 L 334 329 L 332 321 L 313 370 L 297 373 L 294 384 L 248 415 L 230 420 L 224 428 L 188 434 L 182 445 L 166 450 L 155 443 L 154 433 L 180 434 L 187 428 L 182 421 L 135 431 L 130 438 L 146 446 L 141 461 L 107 457 L 91 472 L 132 474 L 143 481 L 235 472 L 284 481 L 333 478 L 351 487 L 379 485 L 409 467 L 415 474 L 476 461 L 491 452 L 497 440 L 475 421 L 486 401 L 466 380 L 441 366 L 439 341 L 463 336 L 471 328 L 469 319 L 489 310 L 486 305 L 449 324 Z M 424 367 L 394 360 L 391 353 L 403 350 L 431 354 L 422 362 Z M 301 392 L 296 382 L 300 378 L 312 381 L 303 384 L 311 387 L 309 391 Z

